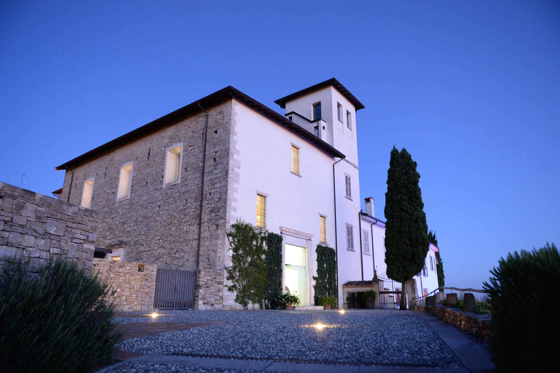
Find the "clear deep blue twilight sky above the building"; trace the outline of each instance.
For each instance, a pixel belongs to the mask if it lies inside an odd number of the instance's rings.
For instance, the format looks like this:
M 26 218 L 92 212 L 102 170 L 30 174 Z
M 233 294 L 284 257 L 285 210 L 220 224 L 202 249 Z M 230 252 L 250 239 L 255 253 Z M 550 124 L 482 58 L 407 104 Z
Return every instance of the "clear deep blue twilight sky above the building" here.
M 560 3 L 0 2 L 0 181 L 54 167 L 228 85 L 274 100 L 336 77 L 362 197 L 412 154 L 446 285 L 560 244 Z M 363 202 L 362 202 L 363 204 Z

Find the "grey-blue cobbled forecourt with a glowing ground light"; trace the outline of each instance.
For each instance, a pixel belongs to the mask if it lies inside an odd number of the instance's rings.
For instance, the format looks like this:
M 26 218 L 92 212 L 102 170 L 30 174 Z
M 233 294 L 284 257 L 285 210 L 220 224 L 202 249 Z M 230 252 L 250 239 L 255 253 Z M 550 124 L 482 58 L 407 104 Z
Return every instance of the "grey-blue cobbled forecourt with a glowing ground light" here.
M 127 339 L 143 354 L 244 357 L 367 365 L 463 367 L 417 316 L 347 312 L 161 311 L 157 321 L 223 320 L 223 324 Z M 148 322 L 151 318 L 115 318 Z M 316 325 L 324 325 L 317 328 Z M 136 368 L 135 368 L 136 369 Z M 149 371 L 149 370 L 148 370 Z M 169 370 L 167 370 L 169 371 Z M 189 371 L 186 370 L 185 371 Z

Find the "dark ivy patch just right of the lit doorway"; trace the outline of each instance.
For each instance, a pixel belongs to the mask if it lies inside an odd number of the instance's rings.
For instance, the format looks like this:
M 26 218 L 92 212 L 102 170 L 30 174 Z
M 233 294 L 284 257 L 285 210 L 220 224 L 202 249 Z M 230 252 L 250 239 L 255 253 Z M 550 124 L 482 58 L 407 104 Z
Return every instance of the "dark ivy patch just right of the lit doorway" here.
M 334 296 L 338 300 L 337 254 L 328 246 L 317 245 L 317 276 L 315 280 L 315 304 L 324 296 Z

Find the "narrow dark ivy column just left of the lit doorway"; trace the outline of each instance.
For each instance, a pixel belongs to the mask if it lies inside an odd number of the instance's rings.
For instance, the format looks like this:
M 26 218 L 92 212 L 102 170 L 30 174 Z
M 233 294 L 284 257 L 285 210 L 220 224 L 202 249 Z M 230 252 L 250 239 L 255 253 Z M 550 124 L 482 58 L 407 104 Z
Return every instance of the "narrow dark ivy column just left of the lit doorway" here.
M 265 307 L 276 310 L 276 299 L 282 295 L 282 236 L 269 232 L 267 235 L 268 287 Z

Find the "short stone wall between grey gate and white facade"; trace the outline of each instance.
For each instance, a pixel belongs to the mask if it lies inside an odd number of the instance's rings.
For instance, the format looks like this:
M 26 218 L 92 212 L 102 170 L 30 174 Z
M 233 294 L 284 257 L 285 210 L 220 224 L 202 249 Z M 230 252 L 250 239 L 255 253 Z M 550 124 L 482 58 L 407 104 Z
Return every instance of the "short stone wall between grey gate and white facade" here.
M 195 310 L 231 309 L 223 306 L 223 271 L 199 269 L 195 288 Z

